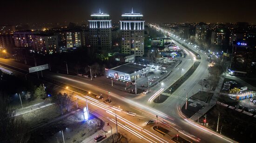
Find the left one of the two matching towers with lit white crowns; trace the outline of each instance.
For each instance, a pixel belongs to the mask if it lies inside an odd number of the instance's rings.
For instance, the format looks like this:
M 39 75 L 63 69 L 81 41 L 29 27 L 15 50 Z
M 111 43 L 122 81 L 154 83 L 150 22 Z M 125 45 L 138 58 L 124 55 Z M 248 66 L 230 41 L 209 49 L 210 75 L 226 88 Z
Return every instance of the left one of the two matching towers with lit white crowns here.
M 101 12 L 91 15 L 89 21 L 90 46 L 98 51 L 108 51 L 112 46 L 111 20 L 109 15 Z

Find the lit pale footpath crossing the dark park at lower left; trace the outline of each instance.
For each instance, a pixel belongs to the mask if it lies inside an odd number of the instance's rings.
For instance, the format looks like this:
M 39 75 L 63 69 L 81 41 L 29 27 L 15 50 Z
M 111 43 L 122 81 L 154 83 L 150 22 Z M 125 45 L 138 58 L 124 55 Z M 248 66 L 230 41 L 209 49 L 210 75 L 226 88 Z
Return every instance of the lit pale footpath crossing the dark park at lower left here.
M 28 113 L 28 112 L 32 112 L 32 111 L 35 111 L 35 110 L 38 110 L 38 109 L 41 109 L 41 108 L 44 108 L 44 107 L 47 107 L 47 106 L 51 106 L 53 104 L 54 103 L 51 103 L 49 100 L 46 100 L 44 102 L 40 102 L 40 103 L 31 105 L 31 106 L 26 106 L 26 107 L 17 109 L 13 112 L 15 112 L 15 116 L 19 116 L 19 115 L 22 115 L 22 114 L 25 114 L 25 113 Z

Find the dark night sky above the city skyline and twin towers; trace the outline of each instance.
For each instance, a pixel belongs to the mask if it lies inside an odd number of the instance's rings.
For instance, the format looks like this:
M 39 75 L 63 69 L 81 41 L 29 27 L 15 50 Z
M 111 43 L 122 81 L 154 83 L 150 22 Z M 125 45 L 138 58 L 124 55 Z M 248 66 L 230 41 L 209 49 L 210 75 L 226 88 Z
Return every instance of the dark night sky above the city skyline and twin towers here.
M 0 24 L 86 21 L 99 8 L 113 22 L 141 12 L 146 22 L 249 22 L 256 24 L 256 0 L 1 0 Z

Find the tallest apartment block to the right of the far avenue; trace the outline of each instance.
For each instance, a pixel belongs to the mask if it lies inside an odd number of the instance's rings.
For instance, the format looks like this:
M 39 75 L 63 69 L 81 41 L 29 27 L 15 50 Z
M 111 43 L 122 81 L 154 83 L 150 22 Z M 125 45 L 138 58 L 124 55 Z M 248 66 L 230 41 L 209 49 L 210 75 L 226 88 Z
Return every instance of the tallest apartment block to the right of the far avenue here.
M 195 41 L 205 42 L 207 34 L 207 25 L 204 23 L 199 23 L 195 26 Z

